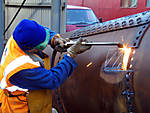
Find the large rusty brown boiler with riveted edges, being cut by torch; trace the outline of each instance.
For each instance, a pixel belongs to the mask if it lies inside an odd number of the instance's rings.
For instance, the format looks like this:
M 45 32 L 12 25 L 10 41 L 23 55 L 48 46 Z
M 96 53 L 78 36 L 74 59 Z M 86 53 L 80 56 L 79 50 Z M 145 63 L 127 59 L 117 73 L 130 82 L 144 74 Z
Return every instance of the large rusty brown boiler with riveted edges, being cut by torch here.
M 134 91 L 131 100 L 135 110 L 132 112 L 149 113 L 149 20 L 150 12 L 143 12 L 62 34 L 63 37 L 71 37 L 73 40 L 82 36 L 90 41 L 113 41 L 134 46 L 132 49 L 135 53 L 131 54 L 133 59 L 128 67 L 133 75 L 131 76 L 129 72 L 105 72 L 104 64 L 108 52 L 118 51 L 118 48 L 93 46 L 89 51 L 75 58 L 78 67 L 58 89 L 59 103 L 55 98 L 55 107 L 60 109 L 59 104 L 61 104 L 63 112 L 66 113 L 127 113 L 129 112 L 127 96 L 122 94 L 127 87 L 126 83 L 130 82 L 129 86 Z M 140 37 L 137 38 L 138 36 Z M 114 52 L 111 54 L 113 55 Z M 130 76 L 130 81 L 127 81 L 127 74 Z

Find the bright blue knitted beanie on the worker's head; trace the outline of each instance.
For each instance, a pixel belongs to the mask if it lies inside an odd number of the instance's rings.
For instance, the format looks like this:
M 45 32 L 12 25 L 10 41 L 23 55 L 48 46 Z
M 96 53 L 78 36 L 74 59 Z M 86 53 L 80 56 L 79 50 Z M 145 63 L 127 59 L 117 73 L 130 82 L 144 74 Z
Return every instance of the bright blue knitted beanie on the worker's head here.
M 37 22 L 23 19 L 15 28 L 13 38 L 22 50 L 30 50 L 44 42 L 46 31 Z

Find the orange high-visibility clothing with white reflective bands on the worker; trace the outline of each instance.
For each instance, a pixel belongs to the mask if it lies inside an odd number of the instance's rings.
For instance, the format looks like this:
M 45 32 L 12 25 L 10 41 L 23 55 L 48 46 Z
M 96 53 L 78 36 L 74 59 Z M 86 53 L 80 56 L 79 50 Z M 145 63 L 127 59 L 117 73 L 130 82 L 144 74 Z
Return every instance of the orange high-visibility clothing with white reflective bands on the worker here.
M 25 96 L 28 89 L 23 89 L 12 85 L 9 78 L 15 73 L 24 69 L 33 69 L 40 67 L 39 62 L 33 61 L 17 45 L 13 37 L 8 40 L 4 49 L 0 63 L 0 90 L 2 102 L 2 113 L 28 113 L 27 97 Z M 18 97 L 8 97 L 20 95 Z

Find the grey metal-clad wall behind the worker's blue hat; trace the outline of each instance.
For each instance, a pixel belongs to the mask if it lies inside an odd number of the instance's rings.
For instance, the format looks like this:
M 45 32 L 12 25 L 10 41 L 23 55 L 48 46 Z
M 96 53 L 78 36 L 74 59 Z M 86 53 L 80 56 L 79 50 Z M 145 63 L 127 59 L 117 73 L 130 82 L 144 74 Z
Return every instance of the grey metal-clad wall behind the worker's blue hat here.
M 10 23 L 22 2 L 23 0 L 5 0 L 5 28 Z M 64 32 L 65 15 L 61 15 L 61 12 L 64 13 L 66 10 L 65 8 L 61 7 L 62 4 L 65 4 L 65 2 L 66 0 L 26 0 L 24 7 L 21 9 L 19 15 L 13 22 L 12 26 L 9 28 L 5 38 L 7 39 L 11 36 L 16 25 L 24 18 L 36 20 L 40 24 L 49 28 L 52 27 L 52 23 L 55 23 L 56 25 L 54 26 L 59 26 L 59 28 L 52 29 L 56 32 Z M 55 5 L 59 7 L 54 7 Z M 55 13 L 53 10 L 56 10 Z M 55 17 L 56 14 L 57 16 Z

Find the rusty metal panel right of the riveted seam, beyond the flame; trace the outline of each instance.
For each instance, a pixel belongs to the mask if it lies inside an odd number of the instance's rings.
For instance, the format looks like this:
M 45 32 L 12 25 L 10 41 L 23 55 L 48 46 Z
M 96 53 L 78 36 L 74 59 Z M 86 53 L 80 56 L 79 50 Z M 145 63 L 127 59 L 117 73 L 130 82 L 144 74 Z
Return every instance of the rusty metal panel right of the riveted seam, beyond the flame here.
M 141 45 L 135 50 L 134 88 L 138 113 L 150 112 L 150 29 L 145 33 Z

